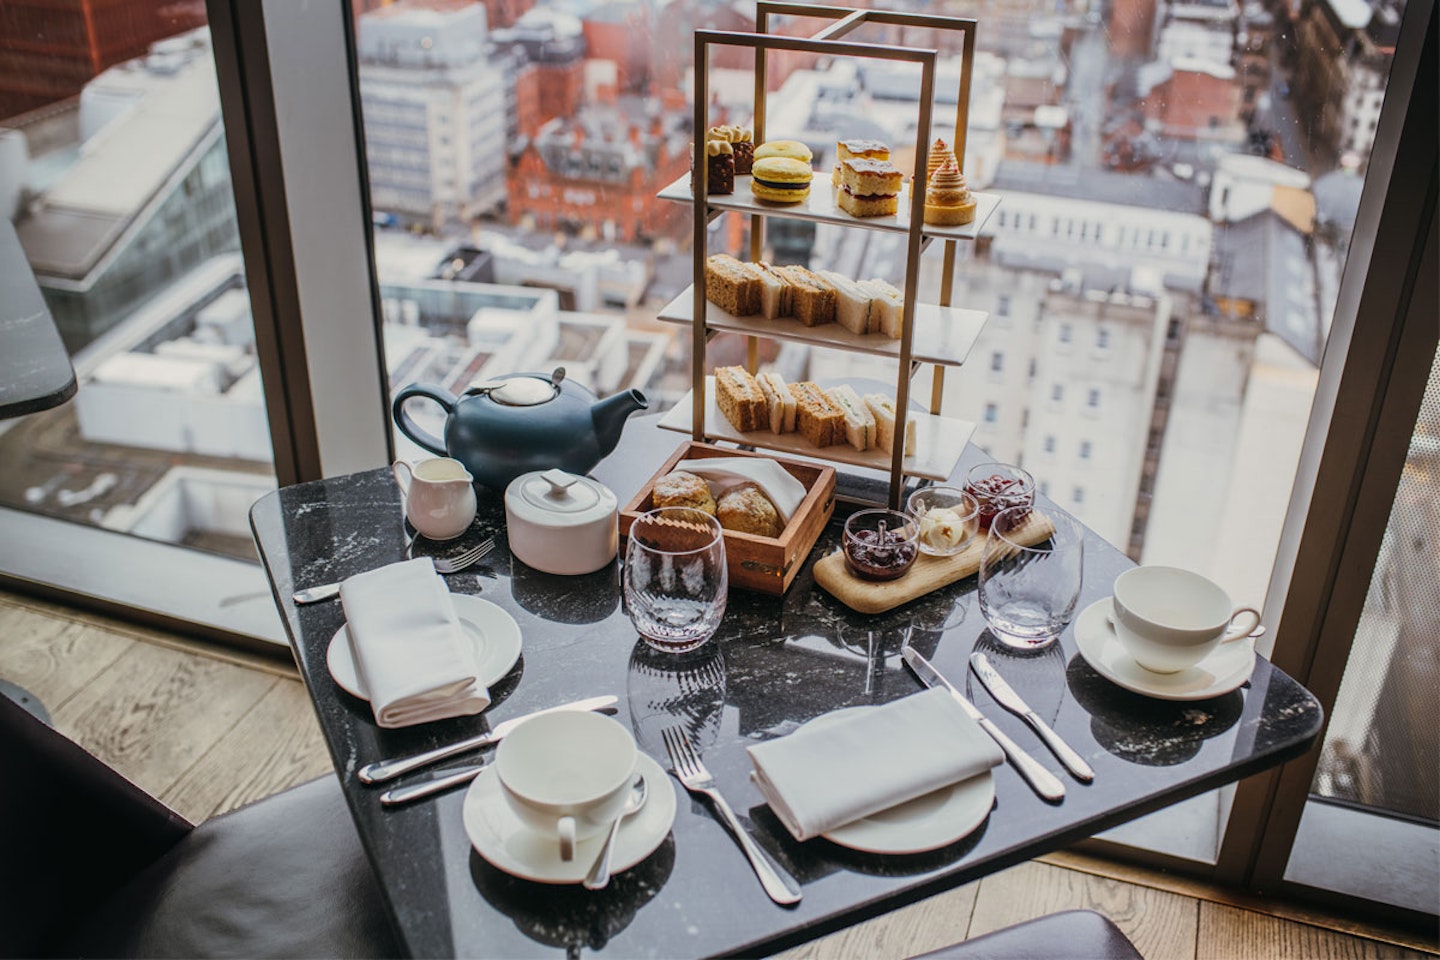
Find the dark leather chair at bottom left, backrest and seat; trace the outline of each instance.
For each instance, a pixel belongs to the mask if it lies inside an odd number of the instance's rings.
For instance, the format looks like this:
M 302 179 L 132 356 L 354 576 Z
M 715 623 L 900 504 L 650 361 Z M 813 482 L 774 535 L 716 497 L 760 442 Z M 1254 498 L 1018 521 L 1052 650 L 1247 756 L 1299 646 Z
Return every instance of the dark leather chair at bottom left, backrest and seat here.
M 0 956 L 393 957 L 340 784 L 192 826 L 0 697 Z

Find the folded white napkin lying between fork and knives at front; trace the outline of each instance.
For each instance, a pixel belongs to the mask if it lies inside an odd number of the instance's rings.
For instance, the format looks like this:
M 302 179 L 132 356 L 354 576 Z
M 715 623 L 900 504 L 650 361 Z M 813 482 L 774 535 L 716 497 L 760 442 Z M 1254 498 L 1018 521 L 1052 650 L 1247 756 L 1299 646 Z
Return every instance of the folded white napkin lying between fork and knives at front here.
M 945 689 L 749 747 L 755 783 L 798 841 L 968 780 L 1004 761 Z

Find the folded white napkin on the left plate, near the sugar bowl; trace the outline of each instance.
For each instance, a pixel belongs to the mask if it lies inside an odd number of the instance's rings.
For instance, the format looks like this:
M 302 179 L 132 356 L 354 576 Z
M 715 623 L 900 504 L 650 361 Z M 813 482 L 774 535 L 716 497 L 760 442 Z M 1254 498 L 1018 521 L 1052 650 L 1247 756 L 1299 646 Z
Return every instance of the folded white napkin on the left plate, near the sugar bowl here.
M 340 603 L 377 724 L 409 727 L 490 707 L 474 643 L 428 558 L 350 577 L 340 586 Z

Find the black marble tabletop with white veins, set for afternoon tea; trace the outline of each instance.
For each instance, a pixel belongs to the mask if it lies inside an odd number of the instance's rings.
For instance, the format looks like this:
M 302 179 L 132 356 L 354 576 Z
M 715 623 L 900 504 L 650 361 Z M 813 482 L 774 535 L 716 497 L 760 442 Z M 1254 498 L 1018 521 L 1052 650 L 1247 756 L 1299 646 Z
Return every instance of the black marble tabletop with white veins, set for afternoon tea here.
M 660 432 L 654 422 L 632 419 L 621 448 L 595 471 L 622 504 L 685 439 Z M 962 471 L 984 459 L 973 448 L 969 453 Z M 389 471 L 281 489 L 255 505 L 252 525 L 360 838 L 415 956 L 769 953 L 1296 757 L 1320 728 L 1316 699 L 1264 659 L 1247 688 L 1181 704 L 1112 685 L 1080 659 L 1068 632 L 1040 656 L 1009 655 L 985 630 L 973 580 L 890 613 L 861 616 L 815 587 L 806 566 L 783 599 L 732 592 L 720 632 L 700 652 L 654 653 L 625 616 L 618 564 L 585 577 L 526 567 L 505 548 L 500 495 L 482 494 L 477 528 L 467 540 L 494 535 L 500 545 L 484 566 L 448 581 L 454 592 L 480 594 L 514 615 L 524 633 L 521 661 L 491 688 L 494 705 L 485 718 L 380 730 L 369 705 L 341 692 L 325 669 L 325 648 L 343 623 L 338 602 L 297 609 L 289 596 L 402 557 L 400 498 Z M 838 521 L 812 561 L 837 544 Z M 1093 535 L 1086 551 L 1083 603 L 1107 596 L 1115 576 L 1130 566 Z M 795 842 L 749 782 L 744 747 L 840 707 L 919 691 L 899 656 L 904 642 L 963 684 L 986 715 L 1060 773 L 1067 797 L 1045 803 L 1004 766 L 995 771 L 988 820 L 948 848 L 878 856 L 825 839 Z M 1093 784 L 1064 776 L 1024 721 L 972 682 L 966 661 L 976 646 L 992 653 L 999 671 L 1089 760 Z M 619 695 L 618 720 L 662 766 L 668 764 L 655 725 L 670 715 L 684 720 L 752 835 L 801 881 L 801 904 L 770 902 L 710 807 L 683 792 L 674 828 L 660 848 L 605 891 L 588 892 L 490 866 L 467 841 L 462 789 L 384 809 L 379 789 L 356 779 L 372 760 L 606 692 Z

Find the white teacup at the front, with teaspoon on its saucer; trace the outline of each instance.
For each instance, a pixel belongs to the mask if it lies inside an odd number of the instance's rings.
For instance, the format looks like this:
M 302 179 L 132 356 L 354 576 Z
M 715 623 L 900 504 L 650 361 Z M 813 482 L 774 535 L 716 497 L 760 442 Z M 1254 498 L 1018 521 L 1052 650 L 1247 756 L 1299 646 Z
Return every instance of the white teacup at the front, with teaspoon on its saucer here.
M 534 830 L 575 845 L 609 828 L 629 799 L 635 738 L 625 727 L 585 711 L 540 714 L 500 741 L 495 773 L 510 809 Z

